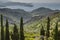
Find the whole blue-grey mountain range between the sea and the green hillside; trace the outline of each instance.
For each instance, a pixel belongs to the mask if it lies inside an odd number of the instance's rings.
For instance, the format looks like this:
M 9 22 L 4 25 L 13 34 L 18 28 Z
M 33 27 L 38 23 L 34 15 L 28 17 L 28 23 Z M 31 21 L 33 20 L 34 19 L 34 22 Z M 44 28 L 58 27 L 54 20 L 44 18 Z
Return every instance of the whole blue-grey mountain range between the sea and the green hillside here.
M 40 20 L 43 17 L 48 17 L 53 15 L 55 12 L 60 12 L 60 10 L 52 10 L 45 7 L 40 7 L 33 10 L 32 12 L 26 12 L 22 9 L 10 9 L 10 8 L 0 8 L 0 14 L 4 15 L 4 21 L 8 18 L 9 23 L 19 23 L 20 17 L 23 17 L 24 23 L 30 21 Z

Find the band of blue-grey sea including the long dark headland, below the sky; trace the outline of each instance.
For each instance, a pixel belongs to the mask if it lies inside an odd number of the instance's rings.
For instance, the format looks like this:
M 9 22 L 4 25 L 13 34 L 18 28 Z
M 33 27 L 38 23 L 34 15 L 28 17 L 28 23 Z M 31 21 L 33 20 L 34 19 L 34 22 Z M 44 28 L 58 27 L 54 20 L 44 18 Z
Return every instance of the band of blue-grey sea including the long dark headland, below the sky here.
M 10 9 L 23 9 L 27 12 L 31 12 L 34 9 L 40 7 L 46 7 L 50 9 L 60 9 L 60 3 L 22 3 L 22 2 L 1 2 L 0 8 Z

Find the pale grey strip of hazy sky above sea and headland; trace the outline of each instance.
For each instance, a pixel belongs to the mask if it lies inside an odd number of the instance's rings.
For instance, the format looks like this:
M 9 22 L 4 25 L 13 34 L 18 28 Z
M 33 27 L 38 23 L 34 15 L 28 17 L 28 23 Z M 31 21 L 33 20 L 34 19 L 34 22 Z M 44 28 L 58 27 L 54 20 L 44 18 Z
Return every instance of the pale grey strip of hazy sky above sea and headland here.
M 26 3 L 60 3 L 60 0 L 0 0 L 0 1 L 26 2 Z

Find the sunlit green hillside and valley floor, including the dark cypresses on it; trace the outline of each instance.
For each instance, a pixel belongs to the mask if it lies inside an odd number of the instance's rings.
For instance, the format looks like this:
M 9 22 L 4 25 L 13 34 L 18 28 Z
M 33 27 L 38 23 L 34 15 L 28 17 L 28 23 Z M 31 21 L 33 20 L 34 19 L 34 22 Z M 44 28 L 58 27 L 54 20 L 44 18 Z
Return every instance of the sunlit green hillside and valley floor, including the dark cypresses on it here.
M 43 26 L 43 27 L 42 27 Z M 59 40 L 60 39 L 60 12 L 56 12 L 49 17 L 43 17 L 38 20 L 30 21 L 23 26 L 23 18 L 20 19 L 20 26 L 8 24 L 3 25 L 3 16 L 1 15 L 1 38 L 5 35 L 6 40 Z M 4 33 L 3 33 L 4 32 Z M 47 33 L 47 35 L 46 35 Z M 4 34 L 4 35 L 3 35 Z M 40 38 L 41 35 L 44 38 Z M 47 37 L 47 38 L 46 38 Z M 59 38 L 59 39 L 58 39 Z M 1 39 L 1 40 L 2 40 Z

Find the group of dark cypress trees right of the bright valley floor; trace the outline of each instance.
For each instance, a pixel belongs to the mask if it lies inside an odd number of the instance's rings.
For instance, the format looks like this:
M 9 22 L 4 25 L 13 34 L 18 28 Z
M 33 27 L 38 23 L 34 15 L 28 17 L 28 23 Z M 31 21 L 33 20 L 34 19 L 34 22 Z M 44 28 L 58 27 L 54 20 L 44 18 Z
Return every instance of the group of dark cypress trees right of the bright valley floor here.
M 41 31 L 40 35 L 42 35 L 42 36 L 46 35 L 46 40 L 49 40 L 49 37 L 50 37 L 50 18 L 49 17 L 47 18 L 47 30 L 46 30 L 46 33 L 45 33 L 45 30 L 44 30 L 43 26 L 42 26 L 40 31 Z M 58 31 L 58 21 L 56 22 L 56 26 L 55 26 L 53 32 L 54 32 L 53 39 L 54 40 L 60 40 L 60 31 Z M 44 40 L 44 37 L 42 37 L 41 39 Z

